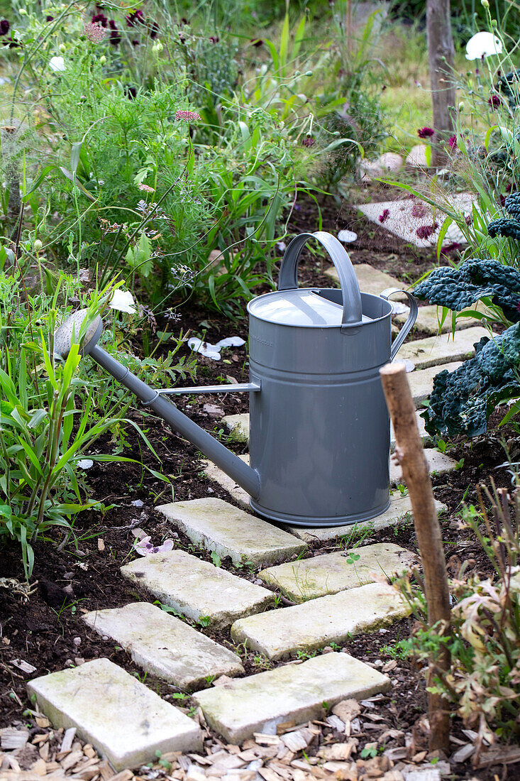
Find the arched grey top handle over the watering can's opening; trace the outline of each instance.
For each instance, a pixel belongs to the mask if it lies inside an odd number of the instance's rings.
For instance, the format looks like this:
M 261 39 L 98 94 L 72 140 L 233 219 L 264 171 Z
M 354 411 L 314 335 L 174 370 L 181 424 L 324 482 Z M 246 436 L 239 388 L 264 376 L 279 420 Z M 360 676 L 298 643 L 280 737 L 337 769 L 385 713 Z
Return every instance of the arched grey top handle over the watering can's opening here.
M 348 257 L 343 244 L 335 236 L 327 234 L 324 230 L 318 230 L 315 234 L 300 234 L 290 242 L 280 266 L 278 290 L 288 291 L 298 286 L 298 261 L 305 244 L 312 238 L 317 239 L 326 248 L 340 278 L 341 294 L 343 295 L 342 325 L 361 323 L 362 301 L 358 279 L 354 273 L 354 266 L 352 266 L 351 259 Z

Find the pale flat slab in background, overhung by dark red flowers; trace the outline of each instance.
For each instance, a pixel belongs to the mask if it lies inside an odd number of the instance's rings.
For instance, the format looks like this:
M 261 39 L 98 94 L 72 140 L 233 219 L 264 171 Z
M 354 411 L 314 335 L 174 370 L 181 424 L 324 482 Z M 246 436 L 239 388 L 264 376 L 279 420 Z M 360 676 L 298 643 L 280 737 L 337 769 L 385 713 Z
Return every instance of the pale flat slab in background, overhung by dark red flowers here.
M 471 193 L 457 193 L 451 196 L 443 196 L 446 201 L 450 201 L 451 209 L 462 212 L 464 215 L 471 215 L 473 198 Z M 358 206 L 358 209 L 372 223 L 383 226 L 385 230 L 397 236 L 403 241 L 415 244 L 415 247 L 435 247 L 439 238 L 440 228 L 446 219 L 446 216 L 436 211 L 433 213 L 432 207 L 421 201 L 419 198 L 404 198 L 401 201 L 382 201 L 381 203 L 364 203 Z M 379 221 L 379 216 L 383 215 L 385 209 L 388 215 L 383 223 Z M 428 237 L 419 237 L 417 230 L 420 226 L 433 226 L 436 228 Z M 447 229 L 443 244 L 451 244 L 456 241 L 458 244 L 466 244 L 461 230 L 454 224 Z

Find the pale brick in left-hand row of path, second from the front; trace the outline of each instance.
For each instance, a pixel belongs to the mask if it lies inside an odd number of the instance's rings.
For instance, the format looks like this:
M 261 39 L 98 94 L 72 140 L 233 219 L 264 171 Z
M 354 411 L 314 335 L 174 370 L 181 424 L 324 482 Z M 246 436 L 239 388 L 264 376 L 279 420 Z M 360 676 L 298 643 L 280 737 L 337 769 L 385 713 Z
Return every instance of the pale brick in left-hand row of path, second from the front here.
M 83 620 L 98 634 L 116 640 L 146 672 L 180 689 L 202 686 L 208 676 L 244 672 L 233 651 L 148 602 L 94 610 Z

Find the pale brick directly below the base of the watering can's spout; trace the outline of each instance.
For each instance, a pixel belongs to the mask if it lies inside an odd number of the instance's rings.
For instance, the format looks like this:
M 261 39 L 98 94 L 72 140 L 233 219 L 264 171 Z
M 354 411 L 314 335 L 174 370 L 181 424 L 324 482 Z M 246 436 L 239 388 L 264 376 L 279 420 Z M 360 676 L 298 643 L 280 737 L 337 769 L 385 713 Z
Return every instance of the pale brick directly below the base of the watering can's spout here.
M 174 501 L 157 508 L 190 540 L 230 556 L 234 565 L 276 564 L 305 551 L 305 543 L 271 523 L 240 510 L 223 499 Z

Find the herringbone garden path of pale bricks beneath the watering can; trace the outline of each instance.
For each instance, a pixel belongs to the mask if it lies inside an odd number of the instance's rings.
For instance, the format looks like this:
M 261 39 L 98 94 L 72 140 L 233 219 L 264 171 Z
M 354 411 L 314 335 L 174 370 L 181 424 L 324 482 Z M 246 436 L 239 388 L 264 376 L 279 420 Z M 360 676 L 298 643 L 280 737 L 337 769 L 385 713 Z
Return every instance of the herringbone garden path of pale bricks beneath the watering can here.
M 394 286 L 391 278 L 379 279 L 378 285 L 381 281 L 386 283 L 383 287 Z M 417 404 L 433 382 L 431 367 L 451 366 L 471 355 L 473 342 L 484 333 L 473 326 L 455 333 L 454 339 L 429 337 L 402 348 L 401 356 L 415 365 L 409 378 Z M 238 431 L 236 420 L 226 423 L 236 435 L 248 437 L 248 420 L 238 417 Z M 426 454 L 431 469 L 456 468 L 446 455 L 431 449 Z M 214 466 L 208 465 L 207 473 L 230 488 L 230 479 Z M 394 470 L 392 481 L 397 480 Z M 239 492 L 231 487 L 232 496 L 244 506 L 247 497 Z M 349 654 L 337 653 L 334 645 L 351 634 L 373 632 L 408 614 L 385 578 L 411 565 L 409 551 L 390 544 L 360 545 L 343 555 L 336 552 L 300 558 L 308 541 L 337 540 L 351 534 L 352 527 L 286 526 L 280 530 L 215 498 L 159 509 L 192 541 L 213 551 L 217 566 L 183 551 L 134 560 L 122 567 L 123 576 L 144 586 L 167 612 L 139 602 L 87 613 L 84 620 L 102 636 L 125 647 L 145 672 L 180 687 L 205 686 L 194 695 L 194 701 L 205 722 L 226 740 L 236 743 L 255 733 L 276 735 L 281 722 L 320 718 L 324 702 L 330 707 L 346 699 L 370 697 L 391 686 L 388 676 Z M 408 497 L 394 494 L 390 509 L 366 523 L 383 528 L 399 523 L 410 511 Z M 251 561 L 268 566 L 251 583 L 219 568 L 219 558 L 224 555 L 230 555 L 235 563 Z M 265 584 L 280 589 L 286 606 Z M 269 609 L 275 601 L 278 609 Z M 240 658 L 187 626 L 178 615 L 201 626 L 208 622 L 230 626 L 237 644 L 248 644 L 266 658 L 299 658 L 233 680 L 232 676 L 243 673 Z M 328 647 L 329 653 L 313 657 L 313 651 L 320 647 Z M 115 690 L 117 697 L 113 696 Z M 30 682 L 29 691 L 55 726 L 77 727 L 78 734 L 105 754 L 116 769 L 153 760 L 157 751 L 194 751 L 201 744 L 197 722 L 109 660 L 94 660 L 41 676 Z M 104 718 L 99 716 L 100 702 L 109 706 L 101 709 Z

